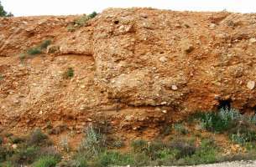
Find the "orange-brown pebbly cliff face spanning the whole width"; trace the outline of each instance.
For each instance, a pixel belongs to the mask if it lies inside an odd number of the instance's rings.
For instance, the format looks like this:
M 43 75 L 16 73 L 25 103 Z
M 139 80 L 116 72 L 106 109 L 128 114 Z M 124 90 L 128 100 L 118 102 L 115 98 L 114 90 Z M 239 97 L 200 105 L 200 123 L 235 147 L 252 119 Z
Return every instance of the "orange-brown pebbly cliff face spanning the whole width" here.
M 150 137 L 198 110 L 255 110 L 256 14 L 109 8 L 79 19 L 0 18 L 2 127 L 50 122 L 79 134 L 107 120 Z M 45 39 L 41 54 L 24 56 Z

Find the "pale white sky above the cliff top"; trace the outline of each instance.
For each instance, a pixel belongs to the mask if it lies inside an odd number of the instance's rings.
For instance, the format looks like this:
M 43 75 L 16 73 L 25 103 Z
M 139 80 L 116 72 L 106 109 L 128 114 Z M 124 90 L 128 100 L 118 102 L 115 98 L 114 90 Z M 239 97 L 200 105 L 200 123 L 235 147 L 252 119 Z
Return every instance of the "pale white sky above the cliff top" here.
M 256 13 L 256 0 L 0 0 L 15 16 L 69 15 L 105 8 L 151 7 L 178 11 Z

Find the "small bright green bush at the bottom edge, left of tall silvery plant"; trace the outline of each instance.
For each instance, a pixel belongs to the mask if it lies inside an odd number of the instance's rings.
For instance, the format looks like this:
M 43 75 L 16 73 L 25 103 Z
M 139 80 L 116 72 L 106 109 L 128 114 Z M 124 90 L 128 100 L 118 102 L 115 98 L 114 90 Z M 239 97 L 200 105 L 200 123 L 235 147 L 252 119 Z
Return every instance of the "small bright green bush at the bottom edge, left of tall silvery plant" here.
M 36 160 L 33 164 L 34 167 L 55 167 L 55 165 L 60 161 L 53 156 L 43 156 Z

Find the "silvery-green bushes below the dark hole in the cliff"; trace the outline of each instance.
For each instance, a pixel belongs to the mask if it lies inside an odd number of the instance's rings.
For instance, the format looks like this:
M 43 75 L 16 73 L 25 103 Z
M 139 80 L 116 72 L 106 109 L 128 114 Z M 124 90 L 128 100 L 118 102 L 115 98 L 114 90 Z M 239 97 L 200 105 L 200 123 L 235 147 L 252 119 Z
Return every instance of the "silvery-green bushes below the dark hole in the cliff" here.
M 236 109 L 220 109 L 217 113 L 196 114 L 201 126 L 214 133 L 226 133 L 238 144 L 256 141 L 254 115 L 243 115 Z

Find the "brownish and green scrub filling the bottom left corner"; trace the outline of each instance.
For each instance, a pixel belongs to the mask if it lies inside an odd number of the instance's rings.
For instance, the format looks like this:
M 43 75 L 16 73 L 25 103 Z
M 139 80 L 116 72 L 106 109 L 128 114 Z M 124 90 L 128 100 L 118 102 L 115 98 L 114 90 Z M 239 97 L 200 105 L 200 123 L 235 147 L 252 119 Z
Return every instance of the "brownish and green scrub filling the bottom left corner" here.
M 60 161 L 60 154 L 50 146 L 50 139 L 39 129 L 25 137 L 8 136 L 8 141 L 16 146 L 8 143 L 0 145 L 0 166 L 20 166 L 33 163 L 33 166 L 44 166 L 43 164 L 46 163 L 45 166 L 48 167 L 50 164 L 55 166 L 56 162 Z M 55 164 L 52 159 L 55 159 Z

